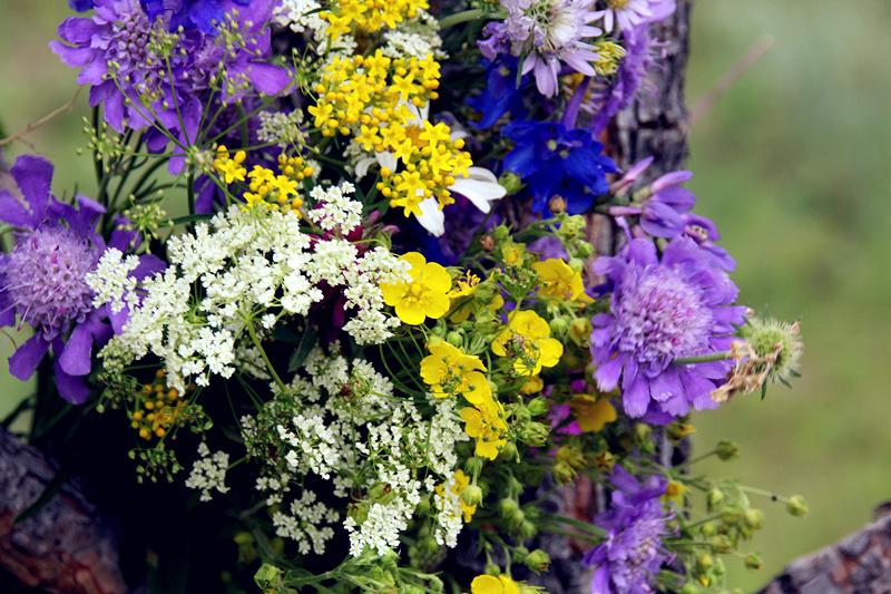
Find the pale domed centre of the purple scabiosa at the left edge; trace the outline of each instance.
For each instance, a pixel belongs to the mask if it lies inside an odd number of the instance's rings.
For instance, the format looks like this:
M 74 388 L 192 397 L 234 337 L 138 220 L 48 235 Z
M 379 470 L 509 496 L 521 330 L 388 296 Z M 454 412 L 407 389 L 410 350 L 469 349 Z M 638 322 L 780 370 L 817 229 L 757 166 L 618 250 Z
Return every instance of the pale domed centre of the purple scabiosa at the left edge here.
M 21 235 L 9 257 L 7 292 L 23 322 L 52 339 L 82 321 L 92 309 L 85 276 L 98 253 L 66 227 Z

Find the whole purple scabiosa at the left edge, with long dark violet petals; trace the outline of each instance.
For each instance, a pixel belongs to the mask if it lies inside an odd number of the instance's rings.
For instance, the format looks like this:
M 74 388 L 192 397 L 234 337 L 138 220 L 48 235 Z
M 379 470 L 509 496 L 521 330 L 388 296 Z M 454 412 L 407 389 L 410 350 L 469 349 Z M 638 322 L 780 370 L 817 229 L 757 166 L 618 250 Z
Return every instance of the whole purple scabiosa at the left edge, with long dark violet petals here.
M 92 344 L 111 333 L 92 308 L 85 279 L 105 249 L 94 232 L 105 208 L 86 196 L 77 197 L 78 208 L 56 201 L 52 165 L 40 157 L 17 158 L 10 173 L 18 195 L 0 189 L 0 221 L 18 233 L 12 252 L 0 261 L 0 324 L 11 325 L 18 317 L 35 335 L 10 357 L 9 372 L 30 378 L 51 348 L 59 393 L 80 403 L 88 396 Z

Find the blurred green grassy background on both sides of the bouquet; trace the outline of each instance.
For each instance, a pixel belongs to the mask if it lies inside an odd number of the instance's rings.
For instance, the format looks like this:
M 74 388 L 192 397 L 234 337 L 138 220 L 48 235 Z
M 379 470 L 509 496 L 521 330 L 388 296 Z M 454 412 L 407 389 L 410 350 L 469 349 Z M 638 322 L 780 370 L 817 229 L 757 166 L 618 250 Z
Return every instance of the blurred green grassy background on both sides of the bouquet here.
M 75 76 L 47 48 L 62 0 L 0 3 L 0 121 L 17 132 L 65 104 Z M 801 493 L 811 515 L 768 502 L 752 548 L 765 567 L 731 566 L 753 591 L 789 559 L 858 528 L 891 499 L 891 2 L 747 0 L 696 3 L 688 99 L 694 104 L 758 39 L 773 49 L 692 130 L 692 186 L 736 256 L 742 301 L 801 319 L 803 380 L 767 400 L 738 398 L 699 415 L 695 444 L 733 439 L 743 457 L 703 462 L 779 493 Z M 80 128 L 86 92 L 14 153 L 56 164 L 55 188 L 91 189 Z M 0 335 L 0 357 L 11 343 Z M 0 413 L 28 387 L 0 368 Z

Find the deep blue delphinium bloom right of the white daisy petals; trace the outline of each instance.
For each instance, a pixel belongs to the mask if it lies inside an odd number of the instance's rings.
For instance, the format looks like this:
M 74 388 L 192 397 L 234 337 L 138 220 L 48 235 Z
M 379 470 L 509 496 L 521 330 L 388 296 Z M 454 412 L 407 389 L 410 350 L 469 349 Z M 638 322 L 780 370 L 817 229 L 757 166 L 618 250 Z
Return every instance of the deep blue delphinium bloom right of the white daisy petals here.
M 618 171 L 590 130 L 551 121 L 513 121 L 502 134 L 516 143 L 505 156 L 505 169 L 526 183 L 539 214 L 546 213 L 555 195 L 566 201 L 570 214 L 589 211 L 609 189 L 606 175 Z

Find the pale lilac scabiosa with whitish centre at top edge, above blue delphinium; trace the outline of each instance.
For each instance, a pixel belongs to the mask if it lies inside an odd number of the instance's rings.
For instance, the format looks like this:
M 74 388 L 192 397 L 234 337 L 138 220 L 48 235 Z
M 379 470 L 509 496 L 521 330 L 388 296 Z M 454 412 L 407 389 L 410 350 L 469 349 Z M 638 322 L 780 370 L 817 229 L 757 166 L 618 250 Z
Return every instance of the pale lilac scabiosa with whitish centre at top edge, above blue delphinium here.
M 597 52 L 586 40 L 603 31 L 589 25 L 598 18 L 594 0 L 501 0 L 501 7 L 508 16 L 487 26 L 488 38 L 480 42 L 483 56 L 490 60 L 498 53 L 523 56 L 522 74 L 532 72 L 546 97 L 557 94 L 564 65 L 595 76 L 591 62 Z

